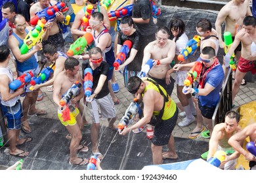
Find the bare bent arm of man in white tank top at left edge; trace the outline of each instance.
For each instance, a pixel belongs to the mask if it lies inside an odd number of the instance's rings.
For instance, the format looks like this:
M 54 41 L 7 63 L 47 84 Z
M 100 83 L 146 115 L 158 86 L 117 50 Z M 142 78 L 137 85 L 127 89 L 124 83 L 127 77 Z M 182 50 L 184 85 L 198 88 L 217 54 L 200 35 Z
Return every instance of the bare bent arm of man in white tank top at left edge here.
M 19 88 L 14 93 L 10 93 L 9 77 L 7 75 L 0 75 L 0 76 L 1 76 L 0 77 L 0 93 L 1 93 L 3 101 L 7 102 L 7 101 L 13 99 L 14 97 L 24 93 L 23 88 Z

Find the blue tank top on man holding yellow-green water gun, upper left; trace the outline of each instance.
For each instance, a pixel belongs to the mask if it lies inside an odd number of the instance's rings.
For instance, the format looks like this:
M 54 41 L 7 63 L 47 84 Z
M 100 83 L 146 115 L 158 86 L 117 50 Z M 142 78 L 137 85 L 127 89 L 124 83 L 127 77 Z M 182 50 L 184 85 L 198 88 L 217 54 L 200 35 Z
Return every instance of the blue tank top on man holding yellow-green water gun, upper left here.
M 26 33 L 28 34 L 28 30 L 26 29 Z M 20 37 L 18 37 L 18 35 L 16 35 L 16 33 L 12 33 L 12 35 L 14 37 L 16 37 L 16 39 L 19 42 L 19 46 L 18 48 L 22 47 L 22 44 L 24 44 L 24 41 L 22 39 L 20 39 Z M 28 52 L 31 52 L 33 50 L 33 47 L 28 50 Z M 38 67 L 38 63 L 37 63 L 37 59 L 35 58 L 35 55 L 33 55 L 31 58 L 27 59 L 26 61 L 20 62 L 18 61 L 18 59 L 16 59 L 16 64 L 17 64 L 17 70 L 24 73 L 25 71 L 28 70 L 32 70 L 32 69 L 37 69 Z

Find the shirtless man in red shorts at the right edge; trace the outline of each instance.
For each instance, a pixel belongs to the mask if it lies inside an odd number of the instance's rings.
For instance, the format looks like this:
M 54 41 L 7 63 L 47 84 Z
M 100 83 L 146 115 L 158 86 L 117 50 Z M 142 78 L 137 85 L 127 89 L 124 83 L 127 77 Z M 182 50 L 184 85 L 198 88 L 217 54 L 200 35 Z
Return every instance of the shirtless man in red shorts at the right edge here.
M 234 42 L 224 58 L 225 62 L 229 61 L 230 56 L 232 56 L 238 44 L 242 42 L 241 57 L 232 86 L 232 103 L 234 103 L 234 97 L 239 92 L 239 87 L 245 74 L 248 71 L 251 71 L 253 75 L 256 73 L 256 19 L 253 16 L 246 16 L 243 24 L 243 28 L 236 34 Z

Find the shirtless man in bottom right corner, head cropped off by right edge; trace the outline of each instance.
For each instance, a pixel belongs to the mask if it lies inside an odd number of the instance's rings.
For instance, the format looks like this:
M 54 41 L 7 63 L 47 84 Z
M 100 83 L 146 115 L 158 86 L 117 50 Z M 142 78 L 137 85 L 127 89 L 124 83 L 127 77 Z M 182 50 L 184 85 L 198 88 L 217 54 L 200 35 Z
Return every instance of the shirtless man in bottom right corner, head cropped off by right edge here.
M 256 141 L 256 124 L 247 125 L 242 131 L 230 137 L 228 144 L 241 153 L 247 161 L 250 161 L 249 167 L 251 167 L 251 170 L 256 170 L 256 157 L 243 148 L 244 140 L 247 137 L 249 137 L 250 142 Z

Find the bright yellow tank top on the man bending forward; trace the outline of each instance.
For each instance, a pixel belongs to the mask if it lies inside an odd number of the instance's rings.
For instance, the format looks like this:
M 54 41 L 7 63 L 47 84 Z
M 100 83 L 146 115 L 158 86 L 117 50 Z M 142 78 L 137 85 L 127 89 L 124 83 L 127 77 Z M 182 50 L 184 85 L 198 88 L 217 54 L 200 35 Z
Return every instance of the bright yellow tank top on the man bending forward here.
M 142 80 L 146 80 L 147 78 L 142 78 Z M 152 80 L 151 78 L 149 78 L 150 80 Z M 160 93 L 160 91 L 158 90 L 158 87 L 153 84 L 152 82 L 148 81 L 148 85 L 146 86 L 144 92 L 146 92 L 146 90 L 148 89 L 153 89 L 156 92 Z M 161 91 L 163 91 L 164 95 L 167 95 L 167 92 L 165 91 L 165 89 L 159 84 L 159 87 L 161 89 Z M 161 94 L 161 93 L 160 93 Z M 142 93 L 142 97 L 143 97 L 143 93 Z M 164 98 L 163 98 L 164 100 Z M 165 109 L 163 110 L 163 116 L 161 117 L 162 120 L 168 120 L 169 118 L 173 117 L 174 113 L 176 111 L 176 103 L 171 99 L 171 97 L 168 95 L 168 101 L 165 102 Z M 160 111 L 153 111 L 153 116 L 157 116 L 160 113 Z

